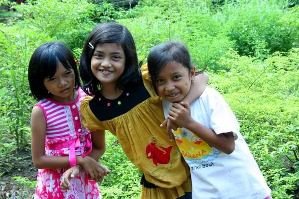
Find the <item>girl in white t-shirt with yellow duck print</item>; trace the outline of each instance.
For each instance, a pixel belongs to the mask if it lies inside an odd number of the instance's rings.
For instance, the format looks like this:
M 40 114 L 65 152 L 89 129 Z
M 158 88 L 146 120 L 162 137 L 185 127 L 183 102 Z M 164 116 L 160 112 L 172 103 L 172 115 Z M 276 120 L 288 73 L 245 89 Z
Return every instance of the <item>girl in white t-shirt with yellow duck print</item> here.
M 192 104 L 181 101 L 194 83 L 187 48 L 166 42 L 148 56 L 152 85 L 163 98 L 164 115 L 181 128 L 175 141 L 188 163 L 193 199 L 272 199 L 271 190 L 222 96 L 206 88 Z

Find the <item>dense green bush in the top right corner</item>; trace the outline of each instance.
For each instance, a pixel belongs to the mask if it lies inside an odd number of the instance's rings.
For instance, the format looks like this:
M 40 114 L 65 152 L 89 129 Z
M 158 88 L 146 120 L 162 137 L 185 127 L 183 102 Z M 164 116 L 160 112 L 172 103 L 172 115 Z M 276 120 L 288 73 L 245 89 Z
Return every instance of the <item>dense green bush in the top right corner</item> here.
M 298 7 L 283 9 L 285 0 L 240 0 L 226 3 L 220 20 L 240 55 L 262 56 L 299 46 Z

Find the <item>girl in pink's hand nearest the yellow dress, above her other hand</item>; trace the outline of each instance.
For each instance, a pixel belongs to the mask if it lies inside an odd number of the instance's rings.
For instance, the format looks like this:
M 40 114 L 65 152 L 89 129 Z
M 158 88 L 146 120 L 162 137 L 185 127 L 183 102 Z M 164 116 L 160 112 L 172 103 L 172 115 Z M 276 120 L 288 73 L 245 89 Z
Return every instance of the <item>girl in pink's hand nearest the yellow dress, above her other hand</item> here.
M 90 175 L 90 180 L 96 180 L 99 176 L 107 176 L 109 174 L 109 170 L 100 165 L 97 161 L 89 156 L 85 156 L 83 158 L 83 168 Z

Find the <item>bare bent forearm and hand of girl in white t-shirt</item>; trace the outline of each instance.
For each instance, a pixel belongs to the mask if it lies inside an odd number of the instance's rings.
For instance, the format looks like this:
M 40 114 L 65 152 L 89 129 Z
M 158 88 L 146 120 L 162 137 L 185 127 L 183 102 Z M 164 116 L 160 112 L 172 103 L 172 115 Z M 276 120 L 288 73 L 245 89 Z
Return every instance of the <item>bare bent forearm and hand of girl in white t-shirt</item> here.
M 181 104 L 183 106 L 174 104 L 170 108 L 168 119 L 192 131 L 206 143 L 226 154 L 231 154 L 235 150 L 233 132 L 223 132 L 217 135 L 213 130 L 192 119 L 188 103 L 182 102 Z

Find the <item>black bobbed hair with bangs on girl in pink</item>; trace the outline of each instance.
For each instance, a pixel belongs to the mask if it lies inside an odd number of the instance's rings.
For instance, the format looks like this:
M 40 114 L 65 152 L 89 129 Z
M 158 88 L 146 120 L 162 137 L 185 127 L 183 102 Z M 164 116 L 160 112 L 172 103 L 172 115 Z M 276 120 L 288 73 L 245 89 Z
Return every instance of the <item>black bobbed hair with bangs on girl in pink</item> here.
M 28 67 L 29 86 L 32 96 L 36 100 L 42 100 L 50 96 L 43 82 L 46 78 L 51 78 L 55 75 L 59 62 L 66 69 L 74 70 L 74 89 L 81 87 L 76 57 L 72 51 L 61 42 L 47 42 L 36 48 Z

